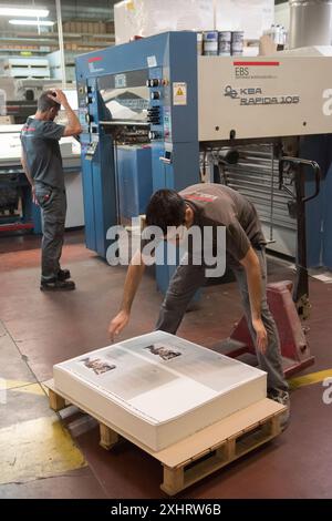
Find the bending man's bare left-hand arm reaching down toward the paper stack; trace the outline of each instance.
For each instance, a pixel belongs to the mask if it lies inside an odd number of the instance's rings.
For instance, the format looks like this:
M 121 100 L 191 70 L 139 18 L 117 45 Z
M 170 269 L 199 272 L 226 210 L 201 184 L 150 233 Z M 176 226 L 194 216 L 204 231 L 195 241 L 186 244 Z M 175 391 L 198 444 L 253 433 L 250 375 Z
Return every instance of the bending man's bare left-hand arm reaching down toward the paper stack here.
M 143 262 L 142 254 L 139 251 L 137 251 L 133 256 L 127 270 L 120 311 L 111 320 L 108 326 L 108 333 L 112 341 L 114 340 L 114 337 L 118 335 L 129 321 L 132 305 L 142 280 L 144 269 L 145 264 Z

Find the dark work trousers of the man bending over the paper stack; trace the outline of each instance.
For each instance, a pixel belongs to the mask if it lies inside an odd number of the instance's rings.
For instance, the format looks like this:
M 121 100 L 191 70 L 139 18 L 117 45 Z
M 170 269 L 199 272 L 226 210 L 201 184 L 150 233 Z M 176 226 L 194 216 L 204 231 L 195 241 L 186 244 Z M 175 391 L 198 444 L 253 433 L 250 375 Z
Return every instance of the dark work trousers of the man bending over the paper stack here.
M 268 334 L 268 348 L 264 355 L 257 349 L 257 357 L 259 366 L 268 374 L 268 391 L 287 391 L 288 384 L 284 379 L 280 341 L 274 319 L 267 302 L 267 262 L 264 248 L 256 251 L 262 276 L 262 302 L 261 302 L 261 318 Z M 251 324 L 251 311 L 249 292 L 247 285 L 247 276 L 245 269 L 239 267 L 234 268 L 235 276 L 241 294 L 242 306 L 246 314 L 248 327 L 256 344 L 256 333 Z M 159 317 L 156 324 L 156 329 L 176 334 L 187 306 L 195 293 L 206 282 L 205 266 L 195 265 L 180 265 L 177 267 L 174 276 L 170 279 L 165 299 L 162 304 Z M 219 320 L 218 310 L 216 310 L 216 319 Z

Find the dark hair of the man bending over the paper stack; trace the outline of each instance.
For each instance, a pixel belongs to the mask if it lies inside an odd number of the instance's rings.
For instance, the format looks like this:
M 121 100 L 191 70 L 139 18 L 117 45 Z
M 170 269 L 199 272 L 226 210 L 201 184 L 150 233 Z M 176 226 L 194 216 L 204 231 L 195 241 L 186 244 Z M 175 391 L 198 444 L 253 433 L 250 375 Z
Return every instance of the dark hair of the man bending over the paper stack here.
M 175 190 L 158 190 L 146 208 L 146 225 L 159 226 L 164 235 L 168 226 L 185 224 L 186 203 Z

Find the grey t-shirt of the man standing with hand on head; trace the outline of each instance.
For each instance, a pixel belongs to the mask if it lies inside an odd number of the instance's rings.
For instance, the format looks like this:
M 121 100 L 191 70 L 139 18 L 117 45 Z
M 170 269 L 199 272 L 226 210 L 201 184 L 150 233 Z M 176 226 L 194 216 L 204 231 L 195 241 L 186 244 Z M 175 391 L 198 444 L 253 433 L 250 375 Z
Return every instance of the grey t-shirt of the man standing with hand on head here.
M 64 190 L 59 140 L 64 126 L 53 121 L 28 118 L 21 131 L 21 143 L 29 172 L 34 182 Z

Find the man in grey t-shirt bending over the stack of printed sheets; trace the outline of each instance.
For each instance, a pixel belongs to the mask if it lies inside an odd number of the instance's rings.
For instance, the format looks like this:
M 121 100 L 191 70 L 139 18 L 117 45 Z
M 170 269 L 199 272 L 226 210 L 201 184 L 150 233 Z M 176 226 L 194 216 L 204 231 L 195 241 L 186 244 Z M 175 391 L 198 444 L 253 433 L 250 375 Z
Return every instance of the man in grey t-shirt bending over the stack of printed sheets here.
M 288 406 L 281 420 L 284 427 L 289 419 L 288 384 L 282 371 L 278 330 L 267 302 L 266 239 L 253 205 L 239 192 L 219 184 L 197 184 L 180 193 L 159 190 L 147 206 L 146 225 L 162 228 L 164 238 L 169 238 L 169 227 L 196 225 L 204 235 L 209 226 L 214 236 L 219 226 L 226 228 L 226 262 L 238 282 L 260 368 L 268 374 L 268 396 Z M 136 252 L 129 265 L 121 309 L 108 328 L 112 339 L 129 320 L 144 273 L 143 254 Z M 205 282 L 204 263 L 181 263 L 169 283 L 156 329 L 176 334 L 190 299 Z

